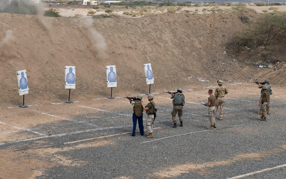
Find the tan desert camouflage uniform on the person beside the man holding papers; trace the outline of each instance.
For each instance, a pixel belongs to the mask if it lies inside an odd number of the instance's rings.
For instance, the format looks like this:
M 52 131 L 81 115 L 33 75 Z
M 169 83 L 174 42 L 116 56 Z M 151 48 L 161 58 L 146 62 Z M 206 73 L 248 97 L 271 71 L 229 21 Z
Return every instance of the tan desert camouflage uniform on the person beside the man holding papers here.
M 220 109 L 219 112 L 219 117 L 222 118 L 223 117 L 223 107 L 225 106 L 225 95 L 229 93 L 229 91 L 227 90 L 227 88 L 223 85 L 219 85 L 216 89 L 215 89 L 215 97 L 217 98 L 216 100 L 216 105 L 215 105 L 215 117 L 217 115 L 217 110 Z M 220 106 L 220 108 L 219 108 Z

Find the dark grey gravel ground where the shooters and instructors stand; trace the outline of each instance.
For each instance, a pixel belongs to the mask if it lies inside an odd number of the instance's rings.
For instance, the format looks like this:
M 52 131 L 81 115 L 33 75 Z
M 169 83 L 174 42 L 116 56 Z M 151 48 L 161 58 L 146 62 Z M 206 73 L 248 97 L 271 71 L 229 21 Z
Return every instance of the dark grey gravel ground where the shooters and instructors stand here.
M 260 116 L 256 114 L 259 109 L 257 103 L 257 98 L 226 99 L 223 120 L 216 121 L 218 129 L 215 130 L 206 130 L 206 127 L 210 125 L 207 107 L 196 103 L 186 103 L 183 115 L 184 127 L 172 128 L 171 103 L 170 105 L 157 105 L 158 117 L 154 128 L 161 127 L 162 129 L 154 130 L 155 138 L 147 139 L 139 133 L 136 133 L 136 137 L 126 134 L 97 140 L 98 142 L 110 141 L 112 144 L 57 152 L 58 155 L 66 156 L 74 161 L 86 161 L 86 163 L 81 166 L 58 164 L 46 169 L 42 176 L 36 178 L 152 179 L 160 178 L 154 174 L 156 172 L 167 173 L 163 171 L 172 169 L 178 171 L 179 168 L 182 169 L 180 174 L 174 173 L 173 177 L 169 177 L 230 178 L 286 164 L 286 150 L 285 147 L 282 148 L 282 145 L 286 144 L 285 102 L 281 102 L 279 98 L 271 99 L 271 114 L 267 116 L 266 122 L 260 121 Z M 98 129 L 39 139 L 47 145 L 56 145 L 53 147 L 57 148 L 74 146 L 78 143 L 69 145 L 63 143 L 132 131 L 132 107 L 111 112 L 76 115 L 73 120 L 45 124 L 38 126 L 39 129 L 34 131 L 49 135 Z M 146 114 L 144 114 L 143 122 L 146 122 Z M 242 126 L 230 127 L 234 125 Z M 179 134 L 186 135 L 151 141 Z M 150 142 L 142 143 L 146 141 Z M 36 142 L 37 140 L 7 143 L 0 145 L 0 149 L 10 147 L 17 150 L 33 147 L 37 146 Z M 88 142 L 91 141 L 82 143 Z M 260 155 L 254 157 L 253 153 Z M 246 157 L 238 157 L 241 155 Z M 47 160 L 44 157 L 41 159 Z M 203 167 L 195 170 L 185 169 L 186 166 L 200 164 Z M 256 178 L 286 178 L 286 168 L 246 177 L 246 179 Z

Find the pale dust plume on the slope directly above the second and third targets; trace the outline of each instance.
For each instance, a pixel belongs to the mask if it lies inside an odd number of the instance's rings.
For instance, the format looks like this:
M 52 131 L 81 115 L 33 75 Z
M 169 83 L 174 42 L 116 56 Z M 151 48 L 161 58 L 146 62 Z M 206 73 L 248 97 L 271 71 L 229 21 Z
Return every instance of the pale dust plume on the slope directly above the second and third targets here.
M 92 18 L 82 19 L 82 25 L 88 30 L 88 39 L 91 42 L 90 50 L 97 53 L 96 57 L 98 60 L 105 60 L 107 58 L 105 38 L 92 27 L 92 24 Z

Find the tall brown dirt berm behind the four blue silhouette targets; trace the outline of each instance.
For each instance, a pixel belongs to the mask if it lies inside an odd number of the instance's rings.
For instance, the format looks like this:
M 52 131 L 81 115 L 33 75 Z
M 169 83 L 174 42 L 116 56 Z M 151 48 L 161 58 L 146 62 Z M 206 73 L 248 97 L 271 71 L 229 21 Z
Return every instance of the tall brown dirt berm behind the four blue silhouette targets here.
M 0 13 L 1 104 L 23 102 L 16 71 L 24 69 L 30 89 L 26 104 L 67 101 L 65 66 L 76 66 L 72 101 L 110 96 L 106 65 L 116 65 L 114 97 L 149 92 L 143 69 L 146 63 L 152 64 L 152 93 L 216 85 L 219 79 L 269 78 L 271 84 L 281 85 L 284 69 L 253 66 L 252 62 L 261 59 L 259 55 L 248 56 L 247 51 L 241 56 L 228 53 L 228 40 L 248 25 L 241 21 L 241 15 L 254 20 L 263 14 L 182 12 L 142 18 L 71 19 Z

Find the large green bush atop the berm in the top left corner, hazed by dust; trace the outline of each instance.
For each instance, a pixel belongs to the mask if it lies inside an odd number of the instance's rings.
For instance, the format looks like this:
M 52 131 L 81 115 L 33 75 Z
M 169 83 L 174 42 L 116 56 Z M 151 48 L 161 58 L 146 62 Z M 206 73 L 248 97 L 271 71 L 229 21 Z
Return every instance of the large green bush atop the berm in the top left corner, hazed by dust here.
M 13 0 L 10 3 L 1 1 L 0 12 L 14 14 L 37 14 L 37 8 L 33 3 L 24 0 Z

